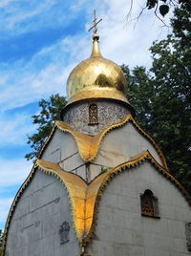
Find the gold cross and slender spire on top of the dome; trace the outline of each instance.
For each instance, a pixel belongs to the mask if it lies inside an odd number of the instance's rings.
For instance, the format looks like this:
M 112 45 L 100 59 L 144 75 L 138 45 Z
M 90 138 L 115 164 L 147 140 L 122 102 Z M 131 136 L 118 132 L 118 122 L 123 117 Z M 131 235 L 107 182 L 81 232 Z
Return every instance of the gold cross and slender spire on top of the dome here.
M 97 32 L 96 25 L 102 20 L 102 18 L 99 19 L 98 21 L 96 21 L 96 10 L 94 11 L 94 14 L 95 14 L 95 18 L 93 20 L 94 25 L 88 30 L 90 32 L 90 31 L 92 31 L 94 29 L 94 34 L 93 34 L 93 51 L 92 51 L 91 57 L 101 57 L 101 53 L 99 51 L 99 46 L 98 46 L 99 36 L 96 33 Z

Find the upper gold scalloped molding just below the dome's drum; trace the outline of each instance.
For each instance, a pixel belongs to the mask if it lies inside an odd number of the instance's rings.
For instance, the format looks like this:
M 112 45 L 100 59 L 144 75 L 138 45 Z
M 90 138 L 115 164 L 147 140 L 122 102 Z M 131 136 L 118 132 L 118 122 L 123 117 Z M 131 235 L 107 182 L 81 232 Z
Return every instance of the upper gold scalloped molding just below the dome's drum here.
M 54 126 L 53 126 L 53 130 L 49 136 L 49 138 L 46 140 L 46 142 L 43 144 L 42 149 L 40 150 L 39 153 L 39 158 L 42 156 L 46 146 L 48 145 L 48 143 L 50 142 L 50 139 L 53 136 L 53 133 L 55 131 L 55 128 L 58 128 L 60 131 L 62 132 L 66 132 L 69 133 L 73 136 L 78 151 L 79 151 L 79 155 L 81 157 L 82 160 L 84 161 L 92 161 L 96 159 L 98 150 L 100 148 L 101 142 L 104 139 L 104 137 L 107 135 L 107 133 L 109 133 L 110 131 L 112 131 L 113 129 L 117 129 L 121 126 L 123 126 L 124 124 L 126 124 L 128 121 L 131 121 L 135 127 L 138 129 L 138 132 L 140 132 L 146 139 L 150 140 L 152 142 L 152 144 L 154 145 L 154 147 L 156 148 L 157 152 L 159 153 L 159 157 L 160 160 L 163 164 L 163 167 L 168 170 L 167 164 L 166 164 L 166 160 L 159 148 L 159 145 L 155 142 L 154 139 L 152 139 L 147 133 L 145 133 L 138 125 L 138 123 L 136 122 L 136 120 L 134 119 L 134 117 L 132 117 L 130 114 L 127 115 L 126 117 L 122 118 L 119 122 L 117 122 L 116 124 L 112 124 L 111 126 L 107 127 L 106 129 L 102 130 L 100 133 L 98 133 L 96 136 L 88 136 L 79 132 L 76 132 L 73 130 L 73 128 L 65 122 L 62 121 L 56 121 Z

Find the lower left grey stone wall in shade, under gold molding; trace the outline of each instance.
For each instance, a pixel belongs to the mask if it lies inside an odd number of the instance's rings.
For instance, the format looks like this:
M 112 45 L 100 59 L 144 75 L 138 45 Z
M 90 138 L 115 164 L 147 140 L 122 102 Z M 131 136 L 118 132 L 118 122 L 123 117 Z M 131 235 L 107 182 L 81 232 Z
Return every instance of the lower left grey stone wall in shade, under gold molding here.
M 70 224 L 70 241 L 60 245 L 59 228 L 63 222 Z M 79 252 L 64 185 L 37 171 L 14 210 L 6 255 L 77 256 Z

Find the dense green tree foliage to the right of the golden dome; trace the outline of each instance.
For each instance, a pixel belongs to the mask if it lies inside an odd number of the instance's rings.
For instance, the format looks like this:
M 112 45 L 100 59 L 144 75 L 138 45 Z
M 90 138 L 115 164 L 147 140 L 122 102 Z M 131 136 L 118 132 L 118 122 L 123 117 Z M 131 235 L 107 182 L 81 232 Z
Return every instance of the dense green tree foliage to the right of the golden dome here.
M 132 72 L 128 98 L 138 123 L 159 143 L 170 171 L 191 191 L 191 2 L 181 1 L 173 33 L 151 47 L 152 67 Z M 141 98 L 142 96 L 142 98 Z

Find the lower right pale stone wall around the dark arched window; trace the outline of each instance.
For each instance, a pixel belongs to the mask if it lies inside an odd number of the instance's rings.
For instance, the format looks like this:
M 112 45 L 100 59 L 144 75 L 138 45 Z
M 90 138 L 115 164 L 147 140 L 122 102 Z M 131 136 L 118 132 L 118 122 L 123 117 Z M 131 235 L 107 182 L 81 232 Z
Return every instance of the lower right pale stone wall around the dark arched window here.
M 139 196 L 150 189 L 159 200 L 159 217 L 140 214 Z M 91 256 L 186 256 L 188 203 L 178 188 L 150 162 L 117 174 L 101 196 Z

